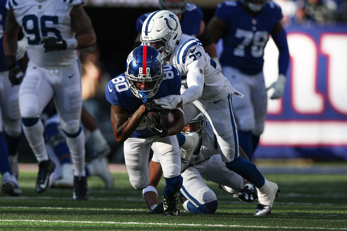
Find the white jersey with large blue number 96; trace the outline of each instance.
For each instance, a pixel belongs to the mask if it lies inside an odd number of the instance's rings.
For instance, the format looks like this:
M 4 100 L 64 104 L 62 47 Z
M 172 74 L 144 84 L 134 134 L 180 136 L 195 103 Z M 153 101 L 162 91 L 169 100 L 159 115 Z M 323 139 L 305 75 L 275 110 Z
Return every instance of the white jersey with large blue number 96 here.
M 31 62 L 41 68 L 56 69 L 72 64 L 77 59 L 76 50 L 45 53 L 44 37 L 74 38 L 70 11 L 84 0 L 7 0 L 6 8 L 12 10 L 26 39 L 26 49 Z

